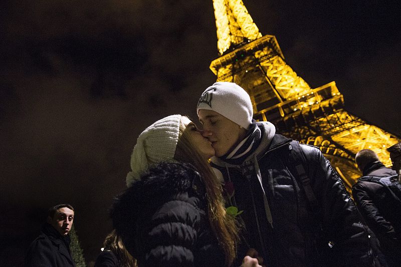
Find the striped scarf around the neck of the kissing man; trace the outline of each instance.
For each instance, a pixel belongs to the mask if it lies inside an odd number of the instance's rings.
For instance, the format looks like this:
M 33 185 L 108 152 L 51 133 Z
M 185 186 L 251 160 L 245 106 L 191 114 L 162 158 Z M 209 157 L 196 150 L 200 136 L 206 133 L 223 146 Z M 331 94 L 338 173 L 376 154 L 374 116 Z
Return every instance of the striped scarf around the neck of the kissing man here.
M 256 148 L 258 148 L 261 139 L 262 130 L 253 119 L 248 130 L 248 135 L 244 138 L 244 140 L 242 140 L 231 152 L 228 152 L 219 158 L 227 163 L 239 165 L 249 155 L 251 155 Z

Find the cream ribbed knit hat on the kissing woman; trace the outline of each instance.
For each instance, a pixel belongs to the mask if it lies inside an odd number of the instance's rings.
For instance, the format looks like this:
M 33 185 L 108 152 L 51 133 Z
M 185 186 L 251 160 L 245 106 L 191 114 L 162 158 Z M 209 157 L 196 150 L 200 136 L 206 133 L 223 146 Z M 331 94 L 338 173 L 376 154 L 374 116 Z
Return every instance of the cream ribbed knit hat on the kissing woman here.
M 131 154 L 131 169 L 126 183 L 139 179 L 150 164 L 172 159 L 178 142 L 181 115 L 170 115 L 157 120 L 139 134 Z

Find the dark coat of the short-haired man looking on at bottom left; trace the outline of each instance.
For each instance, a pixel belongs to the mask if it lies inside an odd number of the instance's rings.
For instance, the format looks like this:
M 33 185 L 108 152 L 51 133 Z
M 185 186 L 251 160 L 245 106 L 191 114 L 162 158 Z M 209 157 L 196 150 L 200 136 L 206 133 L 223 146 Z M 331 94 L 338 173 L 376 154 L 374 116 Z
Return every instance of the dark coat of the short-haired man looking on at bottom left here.
M 70 242 L 68 235 L 62 236 L 51 224 L 45 223 L 41 234 L 29 246 L 25 266 L 75 267 Z

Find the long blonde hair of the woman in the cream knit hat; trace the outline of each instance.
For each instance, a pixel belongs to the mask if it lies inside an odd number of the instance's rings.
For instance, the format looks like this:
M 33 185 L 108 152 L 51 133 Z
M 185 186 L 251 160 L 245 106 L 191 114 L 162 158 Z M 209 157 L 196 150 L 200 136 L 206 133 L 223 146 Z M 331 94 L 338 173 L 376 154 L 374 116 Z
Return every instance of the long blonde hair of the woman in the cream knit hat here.
M 179 126 L 174 159 L 192 164 L 202 176 L 207 192 L 209 222 L 219 240 L 220 246 L 225 251 L 226 265 L 230 266 L 237 252 L 238 222 L 235 217 L 226 213 L 221 183 L 214 174 L 209 162 L 202 157 L 192 144 L 189 131 L 185 131 L 185 125 L 182 122 Z

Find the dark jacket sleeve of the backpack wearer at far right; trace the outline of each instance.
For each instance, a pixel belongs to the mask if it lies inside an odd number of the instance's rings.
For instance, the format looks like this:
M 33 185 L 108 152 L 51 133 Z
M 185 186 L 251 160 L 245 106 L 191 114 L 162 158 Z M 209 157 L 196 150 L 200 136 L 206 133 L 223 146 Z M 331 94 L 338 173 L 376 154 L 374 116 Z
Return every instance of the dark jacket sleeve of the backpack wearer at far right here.
M 381 186 L 381 185 L 376 185 Z M 380 210 L 374 203 L 374 199 L 369 194 L 369 189 L 361 183 L 357 182 L 352 187 L 352 195 L 359 208 L 366 224 L 373 232 L 387 237 L 389 240 L 396 240 L 395 230 L 391 222 L 386 220 L 380 213 Z

